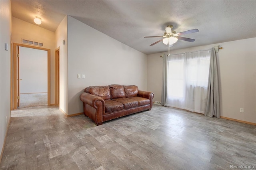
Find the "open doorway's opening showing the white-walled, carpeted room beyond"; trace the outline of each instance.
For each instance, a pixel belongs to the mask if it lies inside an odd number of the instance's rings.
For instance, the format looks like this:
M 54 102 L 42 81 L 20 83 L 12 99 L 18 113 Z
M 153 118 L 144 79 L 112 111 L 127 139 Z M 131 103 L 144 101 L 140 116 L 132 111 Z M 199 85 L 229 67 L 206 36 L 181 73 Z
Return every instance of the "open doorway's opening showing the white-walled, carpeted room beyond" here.
M 47 51 L 19 47 L 18 108 L 47 105 Z

